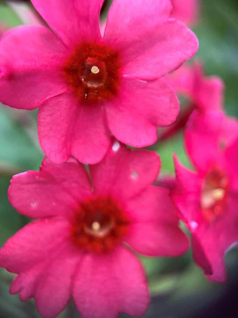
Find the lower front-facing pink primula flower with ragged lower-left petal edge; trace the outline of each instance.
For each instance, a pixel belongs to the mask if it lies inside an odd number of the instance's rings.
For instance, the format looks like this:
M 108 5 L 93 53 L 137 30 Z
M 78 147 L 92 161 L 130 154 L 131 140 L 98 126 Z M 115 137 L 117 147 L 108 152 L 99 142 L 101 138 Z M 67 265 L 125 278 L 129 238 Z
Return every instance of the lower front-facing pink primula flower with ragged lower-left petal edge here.
M 149 294 L 132 248 L 149 256 L 188 248 L 168 190 L 151 185 L 159 169 L 156 153 L 116 141 L 90 176 L 76 160 L 47 158 L 39 172 L 14 176 L 11 204 L 38 220 L 0 250 L 0 265 L 18 274 L 10 293 L 34 297 L 45 318 L 58 315 L 70 295 L 86 318 L 142 315 Z

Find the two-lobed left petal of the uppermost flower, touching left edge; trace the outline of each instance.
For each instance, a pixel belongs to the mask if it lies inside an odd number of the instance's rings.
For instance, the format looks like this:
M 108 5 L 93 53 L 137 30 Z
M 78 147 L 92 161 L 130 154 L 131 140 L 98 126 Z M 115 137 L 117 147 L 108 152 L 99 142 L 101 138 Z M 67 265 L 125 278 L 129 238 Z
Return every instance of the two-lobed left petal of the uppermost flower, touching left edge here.
M 20 109 L 34 109 L 67 89 L 60 66 L 66 48 L 43 26 L 21 26 L 0 42 L 0 99 Z

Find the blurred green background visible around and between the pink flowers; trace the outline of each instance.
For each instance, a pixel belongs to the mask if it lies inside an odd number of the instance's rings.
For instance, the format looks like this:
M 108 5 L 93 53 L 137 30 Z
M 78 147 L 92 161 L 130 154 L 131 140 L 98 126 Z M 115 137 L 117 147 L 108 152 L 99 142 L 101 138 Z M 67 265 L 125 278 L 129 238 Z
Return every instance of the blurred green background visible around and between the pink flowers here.
M 103 7 L 102 18 L 106 17 L 110 2 L 107 1 Z M 181 2 L 186 5 L 186 0 Z M 16 6 L 20 3 L 31 6 L 30 1 L 0 0 L 0 33 L 4 29 L 36 23 L 40 19 L 34 15 L 33 18 L 26 17 L 25 6 Z M 225 109 L 229 115 L 238 117 L 238 1 L 201 0 L 200 3 L 199 18 L 192 27 L 200 42 L 196 59 L 203 62 L 206 75 L 218 75 L 223 79 L 226 85 Z M 0 105 L 1 246 L 29 221 L 11 207 L 7 189 L 13 174 L 38 170 L 43 159 L 37 138 L 36 116 L 37 110 L 26 112 Z M 165 173 L 174 172 L 173 151 L 184 164 L 189 164 L 182 145 L 182 133 L 156 144 L 153 149 L 161 156 L 162 171 Z M 238 317 L 237 249 L 226 255 L 228 281 L 225 284 L 206 280 L 194 264 L 190 251 L 179 258 L 141 259 L 152 294 L 145 318 Z M 13 274 L 0 268 L 0 318 L 40 317 L 33 300 L 23 303 L 18 295 L 8 294 L 13 277 Z M 79 317 L 79 314 L 70 303 L 58 317 L 73 318 Z

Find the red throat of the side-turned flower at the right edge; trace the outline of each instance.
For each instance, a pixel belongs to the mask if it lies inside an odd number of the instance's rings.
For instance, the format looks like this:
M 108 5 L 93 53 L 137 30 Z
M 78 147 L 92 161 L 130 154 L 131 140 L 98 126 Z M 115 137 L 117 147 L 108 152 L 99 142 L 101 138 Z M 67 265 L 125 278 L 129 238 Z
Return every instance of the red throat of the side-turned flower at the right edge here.
M 224 171 L 212 168 L 203 179 L 201 205 L 207 220 L 221 215 L 227 203 L 228 178 Z

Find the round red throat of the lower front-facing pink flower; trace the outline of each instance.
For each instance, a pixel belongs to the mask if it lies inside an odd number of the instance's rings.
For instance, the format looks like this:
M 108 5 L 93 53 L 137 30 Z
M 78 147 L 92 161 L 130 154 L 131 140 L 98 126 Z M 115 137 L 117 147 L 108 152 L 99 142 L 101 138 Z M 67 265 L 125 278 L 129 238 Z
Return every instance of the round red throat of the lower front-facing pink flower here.
M 107 252 L 122 241 L 128 226 L 129 220 L 115 200 L 96 197 L 80 204 L 71 235 L 81 248 Z

